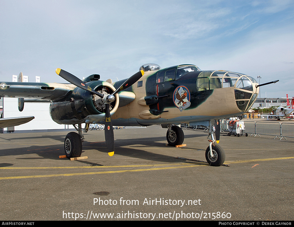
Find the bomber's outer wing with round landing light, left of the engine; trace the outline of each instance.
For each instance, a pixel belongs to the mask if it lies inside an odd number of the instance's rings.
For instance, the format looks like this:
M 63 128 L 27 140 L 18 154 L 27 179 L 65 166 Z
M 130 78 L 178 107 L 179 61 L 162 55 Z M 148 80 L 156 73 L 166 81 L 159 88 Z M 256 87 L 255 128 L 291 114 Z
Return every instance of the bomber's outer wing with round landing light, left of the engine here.
M 0 97 L 54 101 L 74 90 L 73 84 L 0 82 Z

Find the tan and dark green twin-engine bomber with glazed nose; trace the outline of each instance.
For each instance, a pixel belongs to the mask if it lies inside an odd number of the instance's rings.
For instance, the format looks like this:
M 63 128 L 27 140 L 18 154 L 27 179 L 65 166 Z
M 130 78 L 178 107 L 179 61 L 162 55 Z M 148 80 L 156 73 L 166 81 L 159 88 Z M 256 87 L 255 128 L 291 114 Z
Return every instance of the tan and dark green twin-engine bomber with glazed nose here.
M 208 128 L 211 140 L 206 160 L 210 165 L 220 166 L 225 153 L 215 144 L 220 138 L 218 119 L 248 111 L 261 86 L 248 75 L 201 71 L 189 64 L 165 69 L 145 64 L 132 77 L 114 83 L 110 79 L 100 81 L 98 74 L 81 81 L 62 69 L 56 69 L 56 73 L 71 84 L 0 82 L 0 96 L 19 98 L 20 111 L 24 107 L 23 98 L 51 101 L 52 119 L 59 124 L 74 125 L 78 131 L 66 135 L 64 149 L 68 158 L 81 156 L 82 123 L 86 123 L 84 132 L 91 123 L 105 124 L 110 156 L 114 154 L 113 126 L 159 124 L 168 129 L 166 139 L 175 146 L 184 140 L 183 130 L 176 125 L 190 123 Z

